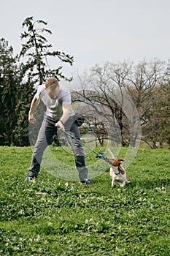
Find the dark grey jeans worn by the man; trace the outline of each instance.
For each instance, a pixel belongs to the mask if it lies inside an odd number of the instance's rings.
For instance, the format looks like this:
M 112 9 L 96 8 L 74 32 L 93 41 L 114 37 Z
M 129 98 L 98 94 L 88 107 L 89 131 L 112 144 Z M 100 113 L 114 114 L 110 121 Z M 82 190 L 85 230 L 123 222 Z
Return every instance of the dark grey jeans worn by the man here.
M 57 121 L 58 120 L 55 120 L 50 116 L 45 116 L 44 120 L 42 121 L 42 127 L 39 129 L 39 135 L 32 154 L 32 161 L 28 170 L 28 176 L 38 176 L 45 148 L 50 145 L 50 141 L 53 138 L 53 135 L 57 135 L 58 129 L 55 127 L 55 123 Z M 71 132 L 75 138 L 80 140 L 80 132 L 77 124 L 74 122 L 74 118 L 70 117 L 64 127 L 66 132 Z M 85 155 L 83 153 L 82 146 L 80 143 L 70 138 L 69 136 L 68 140 L 74 152 L 75 164 L 79 172 L 80 181 L 83 181 L 85 178 L 88 178 L 88 168 L 85 166 Z

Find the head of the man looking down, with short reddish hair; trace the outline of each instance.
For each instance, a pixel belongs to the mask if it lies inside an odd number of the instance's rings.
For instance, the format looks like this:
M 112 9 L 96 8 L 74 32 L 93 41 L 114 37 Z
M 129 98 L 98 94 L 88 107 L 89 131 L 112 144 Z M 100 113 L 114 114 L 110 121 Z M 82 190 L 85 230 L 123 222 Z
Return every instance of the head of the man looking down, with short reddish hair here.
M 45 90 L 50 98 L 55 99 L 58 97 L 59 83 L 56 78 L 47 78 L 45 82 Z

